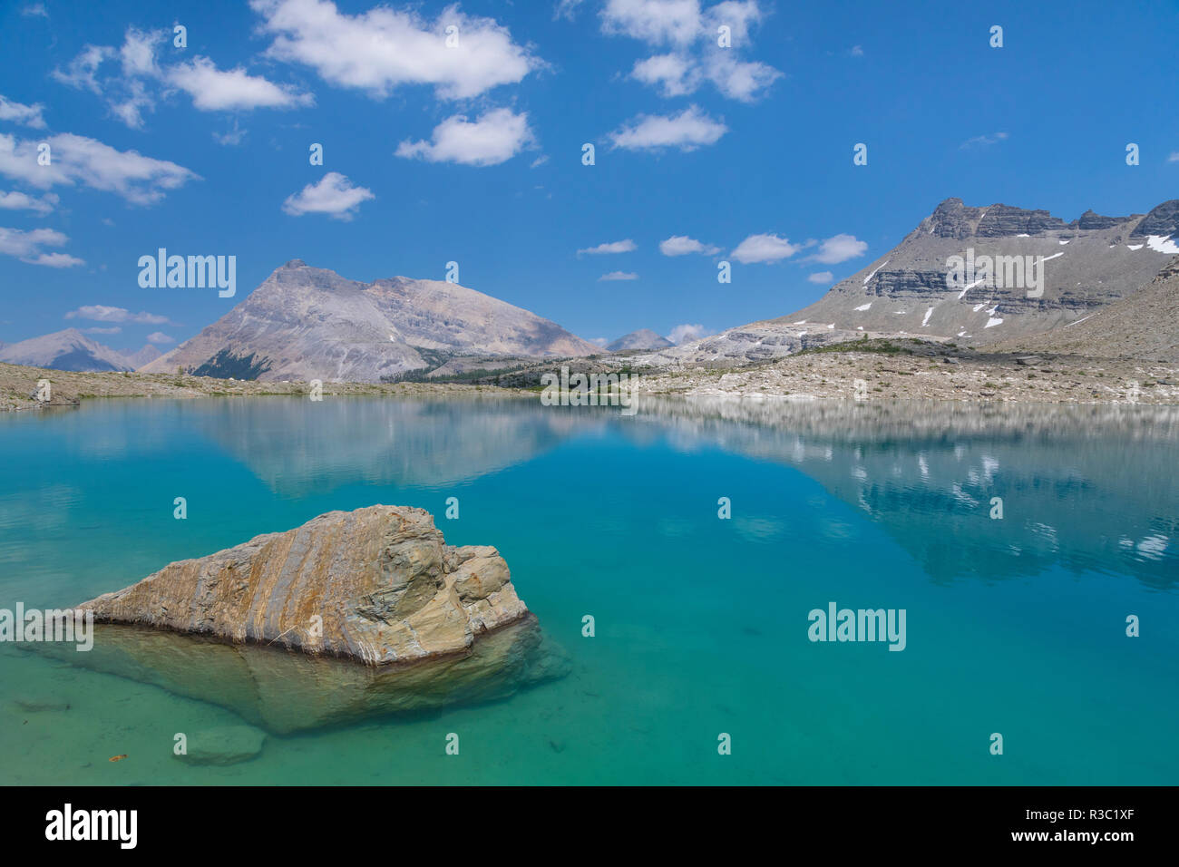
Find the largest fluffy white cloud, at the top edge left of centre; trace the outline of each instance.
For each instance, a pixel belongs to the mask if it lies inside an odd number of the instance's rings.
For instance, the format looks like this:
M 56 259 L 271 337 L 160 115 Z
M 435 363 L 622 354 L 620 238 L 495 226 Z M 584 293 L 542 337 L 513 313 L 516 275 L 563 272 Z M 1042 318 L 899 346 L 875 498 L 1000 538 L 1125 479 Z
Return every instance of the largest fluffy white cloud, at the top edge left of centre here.
M 443 99 L 477 97 L 515 84 L 541 64 L 512 41 L 507 27 L 446 8 L 428 22 L 413 11 L 377 6 L 357 15 L 330 0 L 251 0 L 275 41 L 266 54 L 303 64 L 342 87 L 387 97 L 401 85 L 433 85 Z M 447 27 L 457 45 L 447 46 Z

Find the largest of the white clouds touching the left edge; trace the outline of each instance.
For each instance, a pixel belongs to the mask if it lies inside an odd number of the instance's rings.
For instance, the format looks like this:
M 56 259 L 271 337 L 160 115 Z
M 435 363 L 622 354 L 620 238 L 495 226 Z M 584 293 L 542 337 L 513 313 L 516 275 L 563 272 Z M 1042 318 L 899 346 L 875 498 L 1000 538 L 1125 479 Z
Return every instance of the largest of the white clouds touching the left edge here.
M 137 151 L 118 151 L 92 138 L 64 132 L 44 139 L 52 162 L 38 165 L 38 142 L 0 134 L 0 175 L 45 190 L 55 184 L 83 184 L 114 192 L 131 204 L 159 202 L 167 190 L 199 179 L 196 172 Z

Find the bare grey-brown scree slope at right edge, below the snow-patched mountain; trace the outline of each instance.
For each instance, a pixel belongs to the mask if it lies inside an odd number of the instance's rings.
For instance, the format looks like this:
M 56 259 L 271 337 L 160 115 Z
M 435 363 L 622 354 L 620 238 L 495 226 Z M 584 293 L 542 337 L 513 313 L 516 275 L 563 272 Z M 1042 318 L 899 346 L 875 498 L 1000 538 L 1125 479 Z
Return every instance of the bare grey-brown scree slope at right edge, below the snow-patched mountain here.
M 1008 343 L 1013 350 L 1179 362 L 1179 256 L 1128 297 L 1063 328 Z

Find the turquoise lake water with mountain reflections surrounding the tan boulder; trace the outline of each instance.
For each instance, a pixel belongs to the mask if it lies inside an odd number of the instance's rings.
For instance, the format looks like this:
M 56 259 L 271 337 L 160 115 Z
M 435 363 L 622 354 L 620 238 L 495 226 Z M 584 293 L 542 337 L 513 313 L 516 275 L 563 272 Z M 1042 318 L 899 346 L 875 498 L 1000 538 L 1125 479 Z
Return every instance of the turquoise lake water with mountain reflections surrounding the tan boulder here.
M 173 735 L 232 711 L 4 644 L 6 784 L 1179 782 L 1179 408 L 94 400 L 0 416 L 0 607 L 411 505 L 571 661 L 191 767 Z M 832 602 L 904 610 L 904 650 L 811 642 Z

